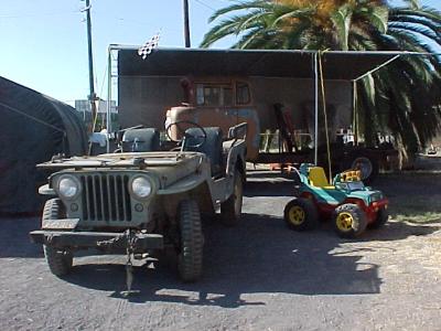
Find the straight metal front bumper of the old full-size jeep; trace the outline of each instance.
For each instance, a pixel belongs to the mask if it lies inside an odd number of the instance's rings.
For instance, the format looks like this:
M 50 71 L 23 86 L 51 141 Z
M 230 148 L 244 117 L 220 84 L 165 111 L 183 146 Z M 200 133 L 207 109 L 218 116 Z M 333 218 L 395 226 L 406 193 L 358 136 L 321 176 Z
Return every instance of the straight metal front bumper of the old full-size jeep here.
M 37 229 L 30 233 L 31 241 L 58 248 L 101 248 L 105 250 L 121 250 L 130 248 L 133 253 L 149 249 L 162 249 L 163 236 L 141 232 L 71 232 Z

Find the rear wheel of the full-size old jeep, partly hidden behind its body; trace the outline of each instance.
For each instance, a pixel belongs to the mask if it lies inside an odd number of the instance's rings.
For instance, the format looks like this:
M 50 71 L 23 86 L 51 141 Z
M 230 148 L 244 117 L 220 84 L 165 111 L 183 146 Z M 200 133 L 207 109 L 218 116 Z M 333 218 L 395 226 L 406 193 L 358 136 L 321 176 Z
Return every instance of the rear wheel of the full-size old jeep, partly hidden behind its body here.
M 244 195 L 244 179 L 240 171 L 235 171 L 233 194 L 220 203 L 220 223 L 233 226 L 239 223 Z

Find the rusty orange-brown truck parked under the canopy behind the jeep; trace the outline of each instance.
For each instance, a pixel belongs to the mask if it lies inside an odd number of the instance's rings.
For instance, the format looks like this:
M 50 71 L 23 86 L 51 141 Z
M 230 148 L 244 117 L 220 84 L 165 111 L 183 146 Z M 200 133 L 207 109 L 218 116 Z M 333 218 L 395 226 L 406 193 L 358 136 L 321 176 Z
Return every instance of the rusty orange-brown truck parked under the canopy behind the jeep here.
M 182 82 L 185 102 L 168 109 L 165 122 L 190 120 L 202 126 L 216 125 L 224 131 L 230 126 L 247 122 L 247 161 L 294 166 L 314 161 L 314 138 L 308 128 L 311 125 L 305 122 L 305 127 L 294 128 L 291 113 L 283 109 L 282 104 L 273 105 L 277 129 L 273 132 L 261 131 L 252 87 L 247 78 L 198 78 L 194 82 L 184 78 Z M 351 130 L 335 127 L 335 111 L 329 115 L 332 169 L 357 169 L 362 171 L 363 180 L 373 180 L 396 151 L 387 143 L 377 147 L 355 146 Z M 179 132 L 172 135 L 179 138 Z M 322 166 L 327 163 L 324 141 L 319 146 L 318 161 Z

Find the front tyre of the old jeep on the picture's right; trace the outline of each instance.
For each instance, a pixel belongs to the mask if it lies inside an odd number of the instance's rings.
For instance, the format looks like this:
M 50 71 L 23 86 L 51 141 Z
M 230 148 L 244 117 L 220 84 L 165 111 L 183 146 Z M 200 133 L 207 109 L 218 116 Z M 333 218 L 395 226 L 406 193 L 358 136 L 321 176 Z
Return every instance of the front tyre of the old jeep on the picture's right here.
M 178 207 L 180 253 L 178 271 L 183 281 L 195 281 L 202 275 L 203 235 L 196 201 L 184 200 Z

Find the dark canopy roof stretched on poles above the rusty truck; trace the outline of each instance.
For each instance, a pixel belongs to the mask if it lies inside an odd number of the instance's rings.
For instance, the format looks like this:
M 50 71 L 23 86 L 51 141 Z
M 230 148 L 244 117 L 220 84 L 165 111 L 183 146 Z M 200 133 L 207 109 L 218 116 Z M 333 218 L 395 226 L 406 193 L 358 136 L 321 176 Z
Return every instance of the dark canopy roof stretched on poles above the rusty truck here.
M 316 51 L 157 49 L 146 60 L 118 52 L 119 76 L 260 76 L 314 78 Z M 402 52 L 322 53 L 325 79 L 353 81 Z

